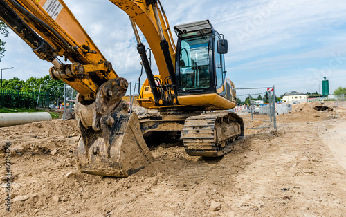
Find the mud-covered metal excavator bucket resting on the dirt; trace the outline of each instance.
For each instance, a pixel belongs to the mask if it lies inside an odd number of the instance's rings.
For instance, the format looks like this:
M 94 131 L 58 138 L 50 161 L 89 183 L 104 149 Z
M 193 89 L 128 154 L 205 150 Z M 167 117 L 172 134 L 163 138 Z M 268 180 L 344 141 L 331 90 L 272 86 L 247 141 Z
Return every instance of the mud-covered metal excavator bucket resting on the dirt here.
M 102 117 L 100 131 L 86 129 L 81 122 L 79 126 L 82 135 L 75 154 L 84 173 L 127 177 L 154 160 L 136 113 L 114 112 Z

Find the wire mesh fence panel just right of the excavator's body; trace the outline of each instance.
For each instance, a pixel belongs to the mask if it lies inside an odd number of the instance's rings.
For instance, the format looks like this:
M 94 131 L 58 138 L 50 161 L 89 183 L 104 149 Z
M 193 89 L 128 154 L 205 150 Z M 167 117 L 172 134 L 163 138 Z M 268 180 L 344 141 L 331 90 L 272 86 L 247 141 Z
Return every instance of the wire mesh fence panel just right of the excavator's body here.
M 244 120 L 244 129 L 276 129 L 275 87 L 237 88 L 233 111 Z

